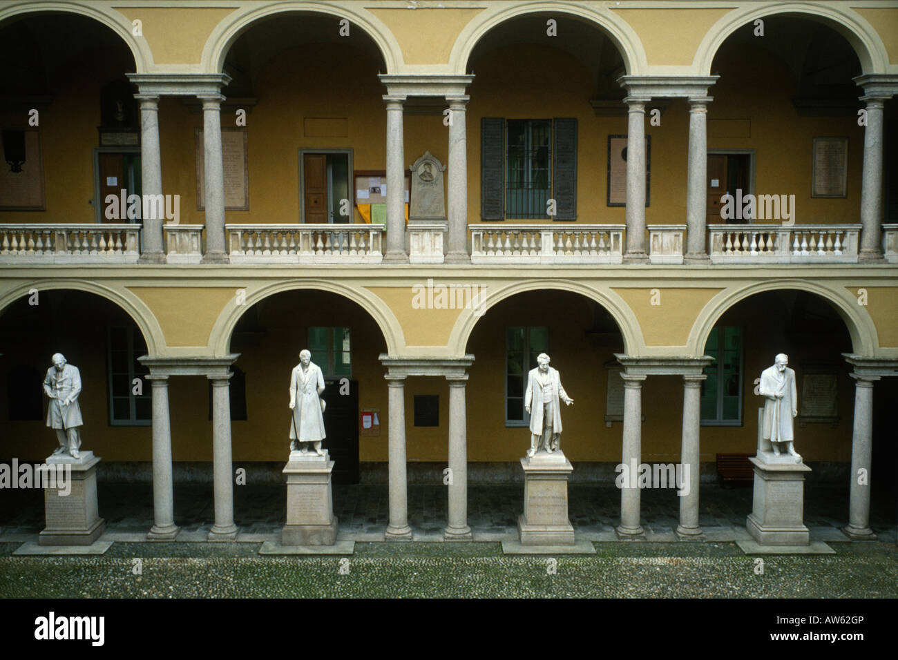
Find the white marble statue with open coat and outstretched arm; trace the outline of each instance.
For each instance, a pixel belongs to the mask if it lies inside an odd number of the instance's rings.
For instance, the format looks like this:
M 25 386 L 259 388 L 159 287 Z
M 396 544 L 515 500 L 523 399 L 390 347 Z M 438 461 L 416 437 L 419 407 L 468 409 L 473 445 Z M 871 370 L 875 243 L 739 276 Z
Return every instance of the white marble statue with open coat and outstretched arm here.
M 530 449 L 527 456 L 540 450 L 546 453 L 558 451 L 561 445 L 561 409 L 559 399 L 566 405 L 574 402 L 561 387 L 558 370 L 549 366 L 550 357 L 541 353 L 527 376 L 527 392 L 524 409 L 530 415 Z

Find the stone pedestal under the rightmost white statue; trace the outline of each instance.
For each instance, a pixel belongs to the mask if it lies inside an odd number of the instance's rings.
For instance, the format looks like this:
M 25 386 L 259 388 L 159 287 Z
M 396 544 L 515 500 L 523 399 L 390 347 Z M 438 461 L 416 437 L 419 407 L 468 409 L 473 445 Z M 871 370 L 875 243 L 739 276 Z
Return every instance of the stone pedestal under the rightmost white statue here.
M 805 475 L 811 469 L 788 454 L 774 458 L 765 453 L 749 459 L 754 465 L 754 497 L 745 527 L 760 545 L 807 545 L 811 538 L 804 522 Z

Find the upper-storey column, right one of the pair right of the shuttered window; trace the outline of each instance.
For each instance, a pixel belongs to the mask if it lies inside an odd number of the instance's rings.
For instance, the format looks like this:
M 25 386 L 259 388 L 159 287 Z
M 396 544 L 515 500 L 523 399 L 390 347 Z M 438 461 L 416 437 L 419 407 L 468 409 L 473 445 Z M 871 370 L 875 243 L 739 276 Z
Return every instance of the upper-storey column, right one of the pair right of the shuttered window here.
M 708 104 L 710 96 L 689 100 L 689 167 L 686 175 L 685 263 L 709 263 L 705 247 L 708 216 Z M 629 153 L 629 152 L 628 152 Z

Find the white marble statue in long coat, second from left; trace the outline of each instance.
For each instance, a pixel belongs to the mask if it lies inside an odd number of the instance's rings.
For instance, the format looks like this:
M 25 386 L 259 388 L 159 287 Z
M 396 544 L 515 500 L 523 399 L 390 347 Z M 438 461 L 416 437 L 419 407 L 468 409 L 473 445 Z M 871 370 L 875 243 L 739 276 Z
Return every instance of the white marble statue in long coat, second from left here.
M 318 365 L 312 362 L 312 354 L 303 349 L 299 354 L 299 364 L 293 368 L 290 376 L 290 450 L 310 453 L 309 444 L 314 453 L 323 456 L 321 440 L 324 439 L 324 400 L 320 399 L 324 392 L 324 376 Z

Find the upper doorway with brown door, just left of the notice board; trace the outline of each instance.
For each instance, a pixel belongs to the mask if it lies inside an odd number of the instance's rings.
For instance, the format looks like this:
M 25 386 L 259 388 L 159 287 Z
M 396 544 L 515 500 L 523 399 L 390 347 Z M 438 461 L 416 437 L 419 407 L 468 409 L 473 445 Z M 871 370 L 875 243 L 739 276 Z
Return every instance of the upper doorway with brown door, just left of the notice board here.
M 352 172 L 352 149 L 300 149 L 299 162 L 300 221 L 307 224 L 351 223 L 354 197 L 349 188 L 349 172 Z

